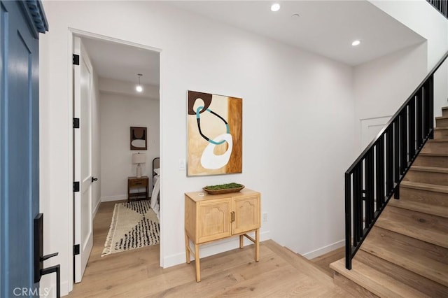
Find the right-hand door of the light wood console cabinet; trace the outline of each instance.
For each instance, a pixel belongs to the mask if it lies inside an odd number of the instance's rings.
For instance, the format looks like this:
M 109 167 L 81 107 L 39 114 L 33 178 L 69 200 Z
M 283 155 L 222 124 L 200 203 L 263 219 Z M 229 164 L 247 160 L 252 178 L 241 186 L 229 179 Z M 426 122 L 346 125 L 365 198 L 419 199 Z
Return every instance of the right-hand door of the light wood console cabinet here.
M 242 197 L 233 199 L 235 221 L 232 234 L 240 234 L 260 227 L 260 197 Z

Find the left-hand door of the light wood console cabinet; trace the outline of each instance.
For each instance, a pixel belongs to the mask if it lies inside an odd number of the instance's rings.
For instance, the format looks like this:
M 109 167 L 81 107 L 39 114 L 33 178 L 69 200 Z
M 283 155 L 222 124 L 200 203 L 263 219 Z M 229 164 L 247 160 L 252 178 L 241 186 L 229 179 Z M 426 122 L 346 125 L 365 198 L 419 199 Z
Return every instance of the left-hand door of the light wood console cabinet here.
M 198 203 L 197 243 L 230 236 L 230 198 Z

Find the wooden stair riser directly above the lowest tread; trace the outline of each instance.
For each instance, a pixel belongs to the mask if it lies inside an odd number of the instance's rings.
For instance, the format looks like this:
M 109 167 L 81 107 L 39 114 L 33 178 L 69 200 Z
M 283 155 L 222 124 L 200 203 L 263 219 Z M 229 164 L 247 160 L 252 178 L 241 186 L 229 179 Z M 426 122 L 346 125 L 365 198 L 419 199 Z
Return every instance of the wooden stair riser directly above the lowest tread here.
M 431 281 L 419 274 L 415 274 L 403 267 L 381 259 L 381 257 L 365 253 L 363 250 L 358 251 L 355 259 L 430 297 L 444 297 L 447 293 L 447 288 L 440 285 L 440 283 L 435 283 L 435 281 Z

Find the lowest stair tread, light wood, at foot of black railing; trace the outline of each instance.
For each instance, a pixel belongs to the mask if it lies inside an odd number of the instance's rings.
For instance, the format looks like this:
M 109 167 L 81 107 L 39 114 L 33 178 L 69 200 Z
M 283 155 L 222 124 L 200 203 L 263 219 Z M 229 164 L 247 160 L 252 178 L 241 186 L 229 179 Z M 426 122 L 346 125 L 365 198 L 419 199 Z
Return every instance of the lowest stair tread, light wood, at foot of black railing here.
M 345 259 L 331 263 L 330 268 L 379 297 L 428 297 L 358 260 L 352 260 L 351 270 L 345 268 Z

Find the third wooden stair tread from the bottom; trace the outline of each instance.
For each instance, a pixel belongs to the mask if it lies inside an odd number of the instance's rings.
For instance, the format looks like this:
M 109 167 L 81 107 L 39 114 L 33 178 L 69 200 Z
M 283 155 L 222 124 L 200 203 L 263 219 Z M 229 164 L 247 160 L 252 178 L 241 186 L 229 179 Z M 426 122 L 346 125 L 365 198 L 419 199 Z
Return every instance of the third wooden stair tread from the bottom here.
M 436 215 L 386 206 L 375 225 L 448 248 L 448 220 Z

